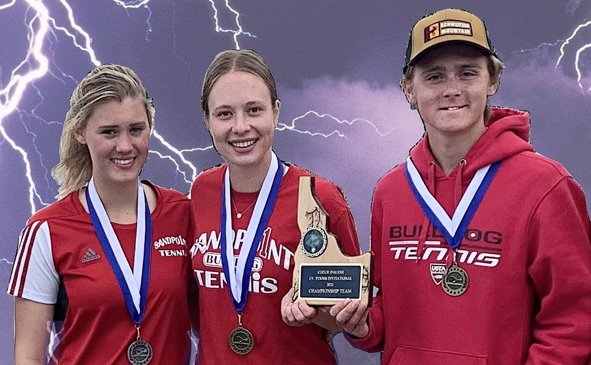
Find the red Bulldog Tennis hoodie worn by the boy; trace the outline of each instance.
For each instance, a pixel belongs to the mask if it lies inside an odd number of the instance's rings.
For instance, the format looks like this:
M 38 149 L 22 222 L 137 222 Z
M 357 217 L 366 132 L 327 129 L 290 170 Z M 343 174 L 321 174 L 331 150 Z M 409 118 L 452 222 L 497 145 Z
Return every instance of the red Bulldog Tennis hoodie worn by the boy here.
M 382 364 L 585 364 L 591 354 L 590 223 L 583 191 L 528 142 L 526 111 L 493 108 L 465 163 L 446 176 L 427 137 L 410 156 L 452 216 L 470 180 L 502 160 L 457 249 L 469 286 L 441 288 L 447 243 L 405 178 L 378 182 L 372 203 L 375 286 L 369 334 L 353 344 Z M 447 260 L 449 266 L 450 261 Z

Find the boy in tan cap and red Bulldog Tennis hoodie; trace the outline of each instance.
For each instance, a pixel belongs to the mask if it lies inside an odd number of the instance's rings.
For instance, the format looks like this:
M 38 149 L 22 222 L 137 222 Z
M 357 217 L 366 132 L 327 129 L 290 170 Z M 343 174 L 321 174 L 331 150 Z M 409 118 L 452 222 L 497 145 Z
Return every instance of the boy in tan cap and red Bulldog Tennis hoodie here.
M 426 133 L 375 188 L 368 320 L 331 310 L 353 344 L 384 351 L 383 364 L 589 359 L 583 191 L 534 152 L 527 111 L 489 106 L 503 67 L 469 12 L 435 12 L 411 29 L 401 87 Z

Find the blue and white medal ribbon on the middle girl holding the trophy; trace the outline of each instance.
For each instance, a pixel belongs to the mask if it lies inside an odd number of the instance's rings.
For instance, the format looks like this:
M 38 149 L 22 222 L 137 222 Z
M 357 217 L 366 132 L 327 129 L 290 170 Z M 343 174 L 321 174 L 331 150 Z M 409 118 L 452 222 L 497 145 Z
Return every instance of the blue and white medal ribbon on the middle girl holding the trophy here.
M 230 207 L 230 169 L 226 168 L 222 186 L 222 214 L 220 219 L 220 251 L 223 272 L 228 282 L 228 290 L 236 311 L 241 312 L 246 305 L 248 284 L 251 278 L 252 264 L 258 243 L 267 228 L 273 206 L 279 195 L 283 179 L 283 164 L 274 152 L 271 152 L 271 164 L 262 183 L 261 191 L 256 198 L 255 208 L 238 254 L 238 262 L 234 261 L 234 237 L 232 231 L 232 211 Z

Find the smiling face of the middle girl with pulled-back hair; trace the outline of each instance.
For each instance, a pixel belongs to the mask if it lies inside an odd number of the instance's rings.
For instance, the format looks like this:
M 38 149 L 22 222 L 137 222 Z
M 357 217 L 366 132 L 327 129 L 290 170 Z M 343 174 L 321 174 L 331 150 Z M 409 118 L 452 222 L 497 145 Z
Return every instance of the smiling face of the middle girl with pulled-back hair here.
M 213 84 L 208 105 L 206 124 L 228 166 L 268 166 L 279 100 L 271 103 L 262 78 L 245 71 L 223 74 Z

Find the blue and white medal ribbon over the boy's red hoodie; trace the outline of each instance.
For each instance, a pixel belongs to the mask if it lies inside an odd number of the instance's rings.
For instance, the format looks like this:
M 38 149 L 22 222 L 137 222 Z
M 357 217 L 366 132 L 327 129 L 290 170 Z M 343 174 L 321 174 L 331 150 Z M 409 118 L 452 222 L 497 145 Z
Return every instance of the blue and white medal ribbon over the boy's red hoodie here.
M 486 165 L 476 172 L 462 199 L 460 199 L 456 211 L 453 213 L 453 217 L 449 218 L 446 211 L 437 199 L 431 195 L 427 186 L 425 186 L 410 156 L 407 157 L 404 173 L 408 185 L 413 190 L 413 195 L 417 199 L 418 205 L 423 209 L 423 212 L 435 228 L 443 234 L 447 240 L 447 244 L 452 249 L 456 249 L 460 245 L 460 242 L 462 242 L 468 225 L 476 214 L 476 210 L 480 202 L 482 202 L 486 190 L 491 185 L 496 172 L 499 170 L 501 162 L 502 160 L 499 160 L 491 165 Z

